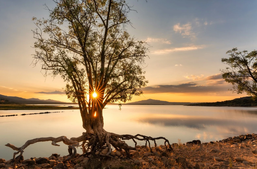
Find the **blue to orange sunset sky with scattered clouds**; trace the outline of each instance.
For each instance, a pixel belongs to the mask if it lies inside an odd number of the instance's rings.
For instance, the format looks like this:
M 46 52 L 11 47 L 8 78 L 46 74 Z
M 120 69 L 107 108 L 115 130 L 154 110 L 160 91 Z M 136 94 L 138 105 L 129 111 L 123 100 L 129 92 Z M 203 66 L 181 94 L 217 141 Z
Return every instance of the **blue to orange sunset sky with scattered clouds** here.
M 257 1 L 127 0 L 136 11 L 127 31 L 150 45 L 144 94 L 132 101 L 216 102 L 244 97 L 228 89 L 220 69 L 226 51 L 257 45 Z M 0 0 L 0 94 L 69 102 L 60 76 L 33 67 L 32 17 L 48 18 L 52 0 Z

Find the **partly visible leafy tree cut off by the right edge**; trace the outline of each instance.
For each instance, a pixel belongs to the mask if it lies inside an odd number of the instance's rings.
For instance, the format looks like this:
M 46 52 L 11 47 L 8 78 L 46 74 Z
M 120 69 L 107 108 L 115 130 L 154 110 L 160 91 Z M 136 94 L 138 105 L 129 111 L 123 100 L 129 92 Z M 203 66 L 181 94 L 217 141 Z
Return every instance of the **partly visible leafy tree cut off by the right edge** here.
M 233 48 L 226 52 L 229 58 L 221 61 L 227 64 L 226 70 L 221 70 L 226 82 L 233 85 L 232 91 L 237 94 L 246 92 L 249 96 L 257 97 L 257 51 L 238 51 Z

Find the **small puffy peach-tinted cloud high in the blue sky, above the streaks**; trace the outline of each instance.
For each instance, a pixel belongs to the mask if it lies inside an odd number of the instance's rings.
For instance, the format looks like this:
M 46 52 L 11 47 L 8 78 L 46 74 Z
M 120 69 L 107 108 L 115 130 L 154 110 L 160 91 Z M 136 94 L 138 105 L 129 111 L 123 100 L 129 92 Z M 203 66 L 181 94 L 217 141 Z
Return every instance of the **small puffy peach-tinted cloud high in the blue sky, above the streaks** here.
M 173 26 L 173 30 L 177 33 L 179 32 L 184 38 L 196 38 L 195 33 L 192 32 L 192 24 L 188 22 L 187 24 L 184 24 L 180 26 L 180 23 Z

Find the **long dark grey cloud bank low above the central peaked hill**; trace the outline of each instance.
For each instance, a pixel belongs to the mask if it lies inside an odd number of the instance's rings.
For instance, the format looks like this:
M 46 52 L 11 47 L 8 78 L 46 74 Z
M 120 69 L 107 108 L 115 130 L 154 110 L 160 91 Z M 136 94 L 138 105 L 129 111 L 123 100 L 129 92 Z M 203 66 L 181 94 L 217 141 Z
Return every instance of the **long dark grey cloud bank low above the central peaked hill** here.
M 197 83 L 189 82 L 179 85 L 157 85 L 142 88 L 144 93 L 215 93 L 227 91 L 226 86 L 197 86 Z

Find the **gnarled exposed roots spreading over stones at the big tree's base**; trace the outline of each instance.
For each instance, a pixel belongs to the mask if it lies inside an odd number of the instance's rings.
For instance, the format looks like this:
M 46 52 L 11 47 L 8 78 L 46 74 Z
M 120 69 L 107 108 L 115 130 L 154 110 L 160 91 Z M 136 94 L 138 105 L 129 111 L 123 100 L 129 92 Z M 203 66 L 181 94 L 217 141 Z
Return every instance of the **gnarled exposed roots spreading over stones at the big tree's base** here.
M 142 138 L 139 138 L 142 137 Z M 135 143 L 135 147 L 131 147 L 129 145 L 127 145 L 127 143 L 125 143 L 125 141 L 122 140 L 130 140 L 132 139 Z M 63 142 L 64 144 L 68 145 L 68 152 L 69 152 L 69 157 L 67 159 L 65 159 L 65 161 L 71 160 L 75 157 L 77 150 L 75 147 L 79 147 L 82 146 L 82 150 L 84 154 L 87 153 L 93 153 L 96 151 L 100 151 L 103 150 L 104 148 L 108 148 L 108 152 L 107 153 L 100 153 L 101 156 L 105 156 L 105 157 L 110 157 L 112 158 L 112 156 L 110 155 L 112 153 L 112 147 L 114 147 L 116 150 L 122 152 L 122 150 L 125 150 L 126 152 L 126 156 L 128 158 L 130 158 L 130 152 L 129 150 L 136 150 L 137 148 L 137 142 L 136 140 L 140 140 L 143 141 L 145 140 L 145 146 L 147 147 L 147 143 L 149 144 L 149 148 L 150 151 L 152 151 L 151 145 L 150 145 L 150 140 L 154 141 L 154 146 L 156 147 L 156 141 L 155 140 L 159 140 L 159 139 L 163 139 L 164 141 L 164 145 L 166 146 L 166 150 L 167 151 L 172 151 L 172 146 L 169 143 L 169 140 L 167 140 L 164 137 L 157 137 L 157 138 L 152 138 L 152 137 L 148 137 L 145 135 L 140 135 L 137 134 L 135 136 L 133 135 L 118 135 L 115 133 L 109 133 L 106 132 L 105 130 L 103 130 L 102 132 L 98 132 L 97 134 L 87 134 L 87 133 L 83 133 L 83 135 L 81 135 L 80 137 L 77 138 L 66 138 L 65 136 L 61 136 L 58 138 L 53 138 L 53 137 L 46 137 L 46 138 L 35 138 L 32 140 L 28 140 L 23 146 L 21 147 L 16 147 L 14 145 L 11 144 L 6 144 L 7 147 L 12 148 L 13 150 L 17 150 L 17 152 L 14 152 L 14 156 L 13 156 L 13 160 L 14 160 L 14 169 L 16 168 L 15 164 L 18 162 L 19 158 L 21 157 L 21 155 L 23 154 L 23 150 L 28 147 L 28 145 L 37 143 L 37 142 L 43 142 L 43 141 L 52 141 L 52 145 L 55 146 L 60 146 L 57 143 L 58 142 Z M 81 145 L 79 145 L 79 142 L 82 142 Z M 167 145 L 166 145 L 167 143 Z M 17 154 L 20 155 L 15 158 L 15 156 Z

